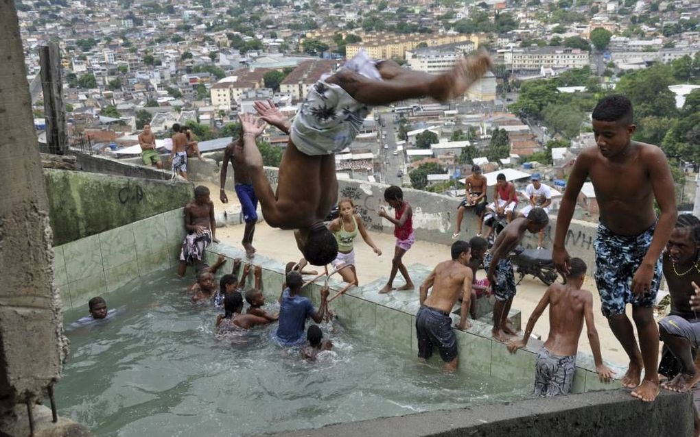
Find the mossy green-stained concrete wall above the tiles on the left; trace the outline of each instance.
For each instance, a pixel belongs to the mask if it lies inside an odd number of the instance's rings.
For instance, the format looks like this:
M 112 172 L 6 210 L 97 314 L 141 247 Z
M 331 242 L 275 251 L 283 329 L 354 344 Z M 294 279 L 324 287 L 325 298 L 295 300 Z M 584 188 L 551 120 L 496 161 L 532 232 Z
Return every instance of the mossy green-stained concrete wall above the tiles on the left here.
M 194 198 L 194 186 L 98 173 L 45 169 L 54 245 L 99 234 L 175 208 Z

